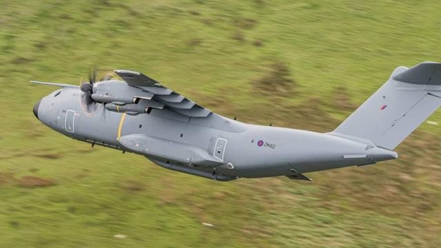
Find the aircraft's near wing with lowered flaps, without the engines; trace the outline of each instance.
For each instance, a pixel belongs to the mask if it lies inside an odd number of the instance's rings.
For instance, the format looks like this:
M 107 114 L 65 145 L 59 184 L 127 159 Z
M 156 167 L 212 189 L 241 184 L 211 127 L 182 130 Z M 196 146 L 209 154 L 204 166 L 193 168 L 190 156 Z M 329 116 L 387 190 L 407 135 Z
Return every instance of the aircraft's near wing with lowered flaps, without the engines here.
M 145 76 L 141 72 L 133 72 L 130 70 L 114 70 L 118 76 L 123 79 L 127 85 L 137 87 L 143 92 L 152 93 L 153 96 L 149 101 L 162 103 L 164 107 L 189 117 L 207 117 L 211 111 L 205 107 L 198 105 L 194 101 L 187 99 L 185 96 L 164 87 L 158 81 Z

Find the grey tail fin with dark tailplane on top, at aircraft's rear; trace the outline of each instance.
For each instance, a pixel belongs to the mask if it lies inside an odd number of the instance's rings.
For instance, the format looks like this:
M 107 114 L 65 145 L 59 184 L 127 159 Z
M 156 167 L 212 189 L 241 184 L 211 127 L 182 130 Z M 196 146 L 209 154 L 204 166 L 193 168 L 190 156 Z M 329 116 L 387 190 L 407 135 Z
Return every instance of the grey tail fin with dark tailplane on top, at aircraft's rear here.
M 394 149 L 441 106 L 441 63 L 399 67 L 332 132 Z

